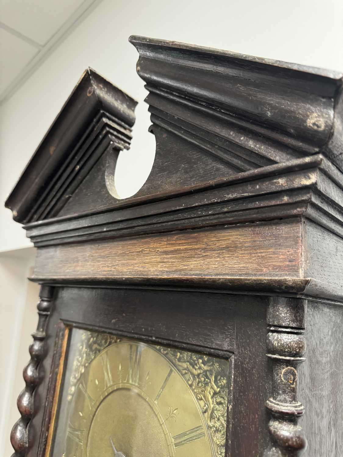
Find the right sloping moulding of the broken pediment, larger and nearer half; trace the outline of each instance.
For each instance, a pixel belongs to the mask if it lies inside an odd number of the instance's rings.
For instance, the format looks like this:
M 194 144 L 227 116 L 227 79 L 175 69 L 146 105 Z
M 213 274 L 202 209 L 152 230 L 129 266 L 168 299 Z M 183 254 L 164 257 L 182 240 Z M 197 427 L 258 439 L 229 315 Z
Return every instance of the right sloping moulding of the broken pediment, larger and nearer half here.
M 343 169 L 342 73 L 146 37 L 129 41 L 150 91 L 152 131 L 163 124 L 188 141 L 210 137 L 212 149 L 255 164 L 258 156 L 272 164 L 322 152 Z

